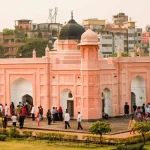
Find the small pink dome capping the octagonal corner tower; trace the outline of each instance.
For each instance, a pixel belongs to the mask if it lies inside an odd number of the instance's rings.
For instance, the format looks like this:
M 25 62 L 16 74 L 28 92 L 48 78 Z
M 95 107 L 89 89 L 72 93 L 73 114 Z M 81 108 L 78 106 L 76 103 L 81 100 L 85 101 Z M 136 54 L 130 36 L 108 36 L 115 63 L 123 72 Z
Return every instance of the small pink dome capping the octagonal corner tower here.
M 97 34 L 91 29 L 88 29 L 82 34 L 79 45 L 99 45 Z

